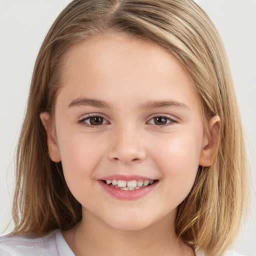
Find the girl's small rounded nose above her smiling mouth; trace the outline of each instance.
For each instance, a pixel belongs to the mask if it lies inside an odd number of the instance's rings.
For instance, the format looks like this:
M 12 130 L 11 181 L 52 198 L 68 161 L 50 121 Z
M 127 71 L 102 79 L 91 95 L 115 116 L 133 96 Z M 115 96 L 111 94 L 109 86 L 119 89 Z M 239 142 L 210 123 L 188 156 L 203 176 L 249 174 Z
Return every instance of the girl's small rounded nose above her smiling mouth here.
M 118 130 L 112 137 L 108 158 L 111 161 L 130 164 L 142 161 L 146 152 L 136 129 Z

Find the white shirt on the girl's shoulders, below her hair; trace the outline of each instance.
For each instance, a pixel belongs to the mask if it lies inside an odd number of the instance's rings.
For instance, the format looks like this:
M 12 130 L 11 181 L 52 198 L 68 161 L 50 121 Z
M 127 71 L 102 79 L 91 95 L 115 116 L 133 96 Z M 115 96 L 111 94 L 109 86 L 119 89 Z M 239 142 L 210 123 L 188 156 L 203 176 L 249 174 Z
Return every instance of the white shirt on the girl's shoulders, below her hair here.
M 196 256 L 203 256 L 196 250 Z M 4 235 L 0 237 L 0 256 L 75 256 L 59 229 L 36 237 L 34 234 Z M 224 256 L 241 256 L 226 252 Z

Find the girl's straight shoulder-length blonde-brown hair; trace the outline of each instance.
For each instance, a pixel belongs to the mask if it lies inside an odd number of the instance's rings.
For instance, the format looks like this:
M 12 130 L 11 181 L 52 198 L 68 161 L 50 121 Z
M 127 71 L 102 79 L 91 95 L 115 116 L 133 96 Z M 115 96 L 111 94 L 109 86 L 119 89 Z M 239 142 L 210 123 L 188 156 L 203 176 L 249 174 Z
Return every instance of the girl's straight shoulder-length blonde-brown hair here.
M 59 14 L 39 50 L 17 147 L 13 233 L 67 230 L 81 219 L 61 162 L 50 160 L 39 114 L 54 116 L 61 68 L 71 45 L 109 31 L 153 42 L 190 74 L 207 130 L 218 115 L 216 155 L 199 166 L 190 193 L 178 206 L 178 237 L 206 255 L 223 253 L 236 237 L 246 208 L 247 161 L 241 118 L 220 37 L 192 0 L 73 0 Z

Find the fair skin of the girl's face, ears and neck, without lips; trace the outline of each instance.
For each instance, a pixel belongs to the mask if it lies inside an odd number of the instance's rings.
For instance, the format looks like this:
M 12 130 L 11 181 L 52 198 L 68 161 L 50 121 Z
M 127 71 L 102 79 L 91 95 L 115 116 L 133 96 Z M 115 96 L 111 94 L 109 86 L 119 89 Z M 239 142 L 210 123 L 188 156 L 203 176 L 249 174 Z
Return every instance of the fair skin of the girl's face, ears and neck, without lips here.
M 77 103 L 84 98 L 105 105 Z M 149 106 L 152 101 L 165 103 Z M 102 124 L 92 125 L 88 114 L 103 117 Z M 161 116 L 165 124 L 155 122 Z M 76 44 L 64 58 L 54 123 L 47 112 L 40 117 L 49 155 L 61 160 L 82 205 L 82 220 L 62 232 L 75 255 L 194 255 L 176 238 L 174 219 L 198 165 L 212 162 L 212 142 L 191 77 L 173 55 L 118 33 Z M 210 130 L 218 122 L 212 119 Z M 113 174 L 158 183 L 142 198 L 120 200 L 99 185 Z

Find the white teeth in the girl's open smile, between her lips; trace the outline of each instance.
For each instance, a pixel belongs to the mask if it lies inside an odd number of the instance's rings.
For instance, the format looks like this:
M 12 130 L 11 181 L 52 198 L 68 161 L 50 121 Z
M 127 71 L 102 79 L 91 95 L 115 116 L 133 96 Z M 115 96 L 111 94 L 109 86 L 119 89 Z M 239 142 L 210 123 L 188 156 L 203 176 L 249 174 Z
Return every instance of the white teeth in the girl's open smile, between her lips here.
M 158 181 L 158 179 L 134 179 L 134 180 L 121 180 L 121 179 L 101 179 L 101 181 L 103 183 L 105 183 L 108 186 L 112 186 L 115 187 L 117 189 L 121 189 L 121 190 L 135 190 L 135 189 L 141 189 L 143 187 L 148 187 L 154 183 L 156 183 Z

